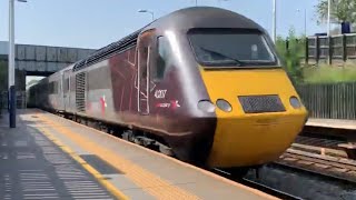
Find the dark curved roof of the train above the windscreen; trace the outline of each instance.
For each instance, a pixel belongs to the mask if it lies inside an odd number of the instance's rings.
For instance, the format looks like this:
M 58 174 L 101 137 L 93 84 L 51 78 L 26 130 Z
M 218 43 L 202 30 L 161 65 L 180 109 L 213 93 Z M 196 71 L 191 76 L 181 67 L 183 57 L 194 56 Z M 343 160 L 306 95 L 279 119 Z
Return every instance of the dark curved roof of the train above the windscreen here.
M 207 18 L 209 20 L 207 20 Z M 214 8 L 214 7 L 192 7 L 174 11 L 165 17 L 161 17 L 146 27 L 132 32 L 117 42 L 106 46 L 86 59 L 75 63 L 73 71 L 86 68 L 92 63 L 99 62 L 111 57 L 113 53 L 125 51 L 132 48 L 137 43 L 138 36 L 145 30 L 176 30 L 187 31 L 192 28 L 238 28 L 238 29 L 257 29 L 266 32 L 259 24 L 253 20 L 238 14 L 236 12 Z

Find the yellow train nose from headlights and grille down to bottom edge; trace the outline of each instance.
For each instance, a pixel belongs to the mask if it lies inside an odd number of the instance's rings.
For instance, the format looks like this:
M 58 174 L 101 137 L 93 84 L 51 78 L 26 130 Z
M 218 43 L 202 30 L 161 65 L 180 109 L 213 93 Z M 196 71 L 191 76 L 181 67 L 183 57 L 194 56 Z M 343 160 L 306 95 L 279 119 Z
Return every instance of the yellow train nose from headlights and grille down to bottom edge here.
M 288 102 L 289 100 L 289 102 Z M 236 96 L 215 101 L 217 127 L 208 164 L 229 168 L 276 160 L 300 132 L 305 113 L 294 96 Z

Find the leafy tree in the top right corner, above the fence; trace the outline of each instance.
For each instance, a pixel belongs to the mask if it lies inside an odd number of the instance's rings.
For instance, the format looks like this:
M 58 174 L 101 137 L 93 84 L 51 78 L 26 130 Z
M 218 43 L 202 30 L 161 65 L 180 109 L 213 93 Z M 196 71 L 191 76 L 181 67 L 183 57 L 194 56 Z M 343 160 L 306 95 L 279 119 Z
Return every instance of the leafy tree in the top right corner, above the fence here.
M 318 23 L 327 21 L 328 0 L 319 0 L 316 6 Z M 330 20 L 335 23 L 356 22 L 356 0 L 332 0 Z

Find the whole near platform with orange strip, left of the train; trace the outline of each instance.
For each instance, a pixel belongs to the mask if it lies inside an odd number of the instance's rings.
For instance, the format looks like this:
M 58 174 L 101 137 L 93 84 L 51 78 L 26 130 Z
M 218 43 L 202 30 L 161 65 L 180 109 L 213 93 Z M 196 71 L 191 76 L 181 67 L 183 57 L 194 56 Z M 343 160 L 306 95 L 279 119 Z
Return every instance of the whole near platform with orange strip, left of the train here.
M 0 119 L 0 199 L 277 199 L 36 109 Z

